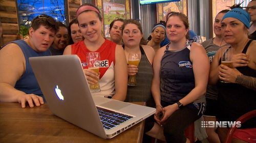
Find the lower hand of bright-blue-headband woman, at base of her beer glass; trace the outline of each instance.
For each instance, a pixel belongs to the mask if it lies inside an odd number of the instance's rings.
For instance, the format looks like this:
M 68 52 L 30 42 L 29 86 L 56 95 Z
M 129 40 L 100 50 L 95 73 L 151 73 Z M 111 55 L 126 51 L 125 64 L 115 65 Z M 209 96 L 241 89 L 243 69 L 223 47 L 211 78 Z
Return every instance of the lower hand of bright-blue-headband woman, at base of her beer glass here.
M 242 75 L 236 68 L 229 68 L 225 65 L 220 65 L 219 69 L 220 80 L 235 83 L 238 75 Z

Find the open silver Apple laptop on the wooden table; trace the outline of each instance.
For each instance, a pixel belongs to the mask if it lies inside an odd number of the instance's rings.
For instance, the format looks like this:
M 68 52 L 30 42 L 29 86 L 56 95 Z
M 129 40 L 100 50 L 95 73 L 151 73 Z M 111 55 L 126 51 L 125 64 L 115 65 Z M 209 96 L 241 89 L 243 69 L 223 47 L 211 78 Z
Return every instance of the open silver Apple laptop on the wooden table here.
M 153 115 L 155 108 L 92 96 L 77 55 L 29 58 L 50 110 L 102 138 L 112 138 Z

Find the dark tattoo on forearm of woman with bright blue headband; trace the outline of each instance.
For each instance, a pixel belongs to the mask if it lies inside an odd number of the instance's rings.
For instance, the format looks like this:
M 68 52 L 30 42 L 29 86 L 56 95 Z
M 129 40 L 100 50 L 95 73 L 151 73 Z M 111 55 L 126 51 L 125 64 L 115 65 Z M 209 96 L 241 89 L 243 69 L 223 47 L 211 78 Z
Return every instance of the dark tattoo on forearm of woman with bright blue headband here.
M 256 78 L 245 75 L 238 75 L 236 83 L 243 85 L 244 87 L 252 90 L 256 90 Z

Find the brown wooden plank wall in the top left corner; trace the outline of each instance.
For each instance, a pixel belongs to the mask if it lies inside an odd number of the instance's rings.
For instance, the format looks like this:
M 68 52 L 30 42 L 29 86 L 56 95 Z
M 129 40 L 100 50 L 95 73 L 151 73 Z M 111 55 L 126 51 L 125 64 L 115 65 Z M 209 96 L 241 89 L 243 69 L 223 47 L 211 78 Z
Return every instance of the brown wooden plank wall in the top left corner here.
M 19 39 L 15 0 L 0 0 L 0 19 L 3 26 L 4 43 Z

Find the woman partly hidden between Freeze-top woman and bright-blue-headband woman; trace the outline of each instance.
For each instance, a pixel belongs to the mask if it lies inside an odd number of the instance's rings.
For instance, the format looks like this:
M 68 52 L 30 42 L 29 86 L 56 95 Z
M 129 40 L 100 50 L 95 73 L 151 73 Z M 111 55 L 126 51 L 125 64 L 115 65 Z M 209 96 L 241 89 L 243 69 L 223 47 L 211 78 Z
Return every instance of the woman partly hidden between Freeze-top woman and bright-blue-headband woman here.
M 207 52 L 210 63 L 212 62 L 212 59 L 214 59 L 214 56 L 220 47 L 223 48 L 229 46 L 229 44 L 227 44 L 222 38 L 221 28 L 221 19 L 228 11 L 229 10 L 222 10 L 216 15 L 214 21 L 214 33 L 216 37 L 208 39 L 202 43 Z M 208 85 L 205 97 L 207 102 L 207 110 L 204 113 L 204 121 L 216 121 L 218 88 L 214 85 Z M 215 131 L 216 128 L 205 128 L 205 130 L 208 135 L 207 139 L 209 142 L 220 143 L 220 138 Z

